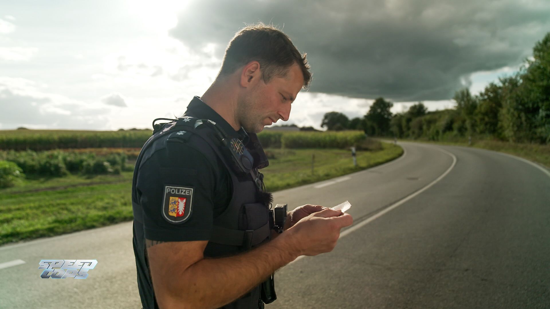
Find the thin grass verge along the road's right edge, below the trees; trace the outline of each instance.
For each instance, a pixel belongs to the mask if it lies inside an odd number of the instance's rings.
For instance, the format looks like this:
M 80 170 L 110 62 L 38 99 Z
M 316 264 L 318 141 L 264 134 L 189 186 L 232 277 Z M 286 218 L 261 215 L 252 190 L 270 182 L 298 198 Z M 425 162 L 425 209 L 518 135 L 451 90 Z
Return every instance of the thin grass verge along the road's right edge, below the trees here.
M 494 140 L 476 140 L 472 139 L 472 145 L 468 146 L 468 141 L 454 141 L 454 142 L 434 142 L 423 140 L 403 140 L 414 142 L 425 142 L 428 144 L 450 145 L 450 146 L 466 146 L 475 147 L 487 150 L 493 150 L 498 152 L 504 152 L 513 154 L 514 156 L 521 157 L 532 162 L 536 162 L 543 165 L 546 168 L 550 168 L 550 145 L 540 144 L 517 144 L 511 142 L 494 141 Z

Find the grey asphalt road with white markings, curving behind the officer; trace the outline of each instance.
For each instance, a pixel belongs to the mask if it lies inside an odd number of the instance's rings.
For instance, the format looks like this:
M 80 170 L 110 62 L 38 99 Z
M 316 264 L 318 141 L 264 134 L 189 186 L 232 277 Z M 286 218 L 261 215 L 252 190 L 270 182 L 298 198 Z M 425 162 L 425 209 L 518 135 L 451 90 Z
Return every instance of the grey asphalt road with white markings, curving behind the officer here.
M 393 162 L 274 194 L 294 207 L 349 200 L 354 225 L 333 252 L 280 269 L 266 307 L 550 308 L 550 172 L 491 151 L 400 145 Z M 131 227 L 0 247 L 0 308 L 141 308 Z M 47 258 L 98 264 L 86 280 L 41 279 Z

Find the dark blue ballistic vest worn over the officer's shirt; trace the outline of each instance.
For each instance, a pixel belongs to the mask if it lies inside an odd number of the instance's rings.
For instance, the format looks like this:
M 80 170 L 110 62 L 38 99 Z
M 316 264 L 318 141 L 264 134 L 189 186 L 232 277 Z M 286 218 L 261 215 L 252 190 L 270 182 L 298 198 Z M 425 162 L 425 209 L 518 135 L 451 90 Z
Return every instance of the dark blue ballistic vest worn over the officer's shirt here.
M 132 183 L 134 220 L 141 223 L 143 222 L 142 208 L 139 205 L 140 196 L 136 190 L 138 171 L 142 162 L 145 162 L 146 159 L 157 150 L 165 148 L 168 141 L 182 142 L 205 154 L 206 158 L 210 159 L 212 164 L 215 164 L 214 166 L 217 164 L 217 158 L 221 159 L 229 172 L 233 188 L 232 197 L 226 210 L 219 214 L 219 216 L 213 218 L 212 234 L 204 251 L 204 255 L 206 257 L 235 255 L 259 246 L 263 242 L 269 241 L 273 228 L 270 207 L 268 203 L 262 201 L 265 200 L 265 198 L 261 196 L 262 191 L 252 179 L 252 175 L 238 175 L 233 171 L 231 168 L 231 164 L 233 164 L 231 161 L 232 158 L 228 157 L 227 154 L 224 154 L 221 150 L 221 145 L 218 144 L 216 137 L 216 131 L 211 126 L 213 122 L 197 118 L 190 118 L 189 120 L 189 118 L 190 117 L 179 118 L 175 122 L 163 124 L 161 128 L 156 130 L 149 140 L 145 142 L 145 145 L 141 149 L 138 159 L 136 160 Z M 210 122 L 210 124 L 207 122 Z M 181 131 L 185 131 L 185 133 L 176 134 Z M 260 176 L 257 169 L 254 169 L 252 174 Z M 145 250 L 144 253 L 146 254 L 143 235 L 143 231 L 136 230 L 134 224 L 134 250 L 141 247 Z M 141 246 L 138 244 L 141 244 Z M 136 258 L 138 258 L 138 255 L 136 255 Z M 146 258 L 145 261 L 142 262 L 149 267 Z M 136 264 L 140 267 L 140 263 Z M 149 274 L 147 269 L 142 269 L 142 271 Z M 150 285 L 152 289 L 151 278 L 149 278 L 149 282 L 143 282 L 141 284 Z M 140 293 L 142 293 L 142 291 L 140 291 Z M 261 285 L 256 286 L 238 300 L 222 308 L 263 308 L 260 293 Z M 157 306 L 155 301 L 155 307 Z

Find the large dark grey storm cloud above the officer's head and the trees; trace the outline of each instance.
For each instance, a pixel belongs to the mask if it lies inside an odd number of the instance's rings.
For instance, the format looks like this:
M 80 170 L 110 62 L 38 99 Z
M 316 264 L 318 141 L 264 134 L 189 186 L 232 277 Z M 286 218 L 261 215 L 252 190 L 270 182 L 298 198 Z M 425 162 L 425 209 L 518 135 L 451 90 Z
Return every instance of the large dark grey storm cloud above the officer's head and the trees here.
M 312 67 L 310 91 L 395 101 L 445 100 L 481 70 L 518 65 L 550 31 L 550 1 L 194 1 L 171 35 L 216 56 L 262 21 Z M 284 27 L 283 27 L 284 25 Z

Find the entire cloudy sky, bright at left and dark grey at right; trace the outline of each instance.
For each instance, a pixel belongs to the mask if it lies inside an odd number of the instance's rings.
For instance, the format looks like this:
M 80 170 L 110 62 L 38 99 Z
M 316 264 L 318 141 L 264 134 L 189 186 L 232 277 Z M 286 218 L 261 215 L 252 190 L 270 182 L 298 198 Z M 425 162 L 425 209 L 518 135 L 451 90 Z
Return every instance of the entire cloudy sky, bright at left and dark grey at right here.
M 313 80 L 288 123 L 358 117 L 372 99 L 452 108 L 513 74 L 550 31 L 548 0 L 2 1 L 0 129 L 149 128 L 181 115 L 224 48 L 262 21 L 307 53 Z

